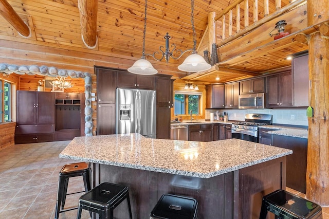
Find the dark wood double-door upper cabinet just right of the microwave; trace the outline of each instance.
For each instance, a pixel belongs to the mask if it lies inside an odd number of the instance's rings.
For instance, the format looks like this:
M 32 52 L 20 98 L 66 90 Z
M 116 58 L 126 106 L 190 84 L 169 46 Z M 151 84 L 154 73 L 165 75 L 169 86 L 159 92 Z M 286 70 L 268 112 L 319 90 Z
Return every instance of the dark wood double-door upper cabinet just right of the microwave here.
M 266 107 L 293 106 L 291 71 L 266 77 Z

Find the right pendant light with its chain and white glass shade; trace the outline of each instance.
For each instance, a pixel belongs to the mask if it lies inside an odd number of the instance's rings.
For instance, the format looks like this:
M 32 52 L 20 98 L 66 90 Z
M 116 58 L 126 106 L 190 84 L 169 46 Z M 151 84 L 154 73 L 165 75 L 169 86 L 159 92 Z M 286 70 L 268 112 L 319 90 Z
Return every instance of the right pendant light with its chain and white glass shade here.
M 194 0 L 191 0 L 191 23 L 193 29 L 193 52 L 188 56 L 182 64 L 178 66 L 181 71 L 195 72 L 195 71 L 206 71 L 211 68 L 205 59 L 197 54 L 196 51 L 196 33 L 194 28 Z

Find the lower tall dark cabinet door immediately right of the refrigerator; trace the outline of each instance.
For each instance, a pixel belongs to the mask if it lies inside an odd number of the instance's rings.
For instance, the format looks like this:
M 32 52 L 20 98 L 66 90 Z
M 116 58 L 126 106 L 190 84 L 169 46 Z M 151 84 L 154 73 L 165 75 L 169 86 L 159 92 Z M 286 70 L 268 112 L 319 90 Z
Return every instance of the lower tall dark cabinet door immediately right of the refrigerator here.
M 156 138 L 170 139 L 170 106 L 156 106 Z

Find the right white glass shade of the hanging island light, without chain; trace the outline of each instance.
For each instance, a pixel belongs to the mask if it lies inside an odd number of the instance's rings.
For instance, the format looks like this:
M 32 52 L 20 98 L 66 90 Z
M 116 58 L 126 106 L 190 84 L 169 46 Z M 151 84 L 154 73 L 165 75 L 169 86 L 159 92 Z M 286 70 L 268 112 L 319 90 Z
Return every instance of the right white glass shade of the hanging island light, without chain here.
M 211 68 L 211 65 L 208 64 L 205 59 L 199 54 L 190 54 L 184 62 L 178 66 L 178 69 L 181 71 L 195 72 L 195 71 L 206 71 Z

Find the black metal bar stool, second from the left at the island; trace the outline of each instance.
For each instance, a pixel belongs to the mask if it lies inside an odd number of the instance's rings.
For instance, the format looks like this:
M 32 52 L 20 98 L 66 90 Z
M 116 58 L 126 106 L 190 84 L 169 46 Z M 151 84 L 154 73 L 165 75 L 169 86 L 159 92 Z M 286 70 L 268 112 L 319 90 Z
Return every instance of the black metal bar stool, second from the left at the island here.
M 82 209 L 99 214 L 99 218 L 113 218 L 113 210 L 127 199 L 129 218 L 132 219 L 129 191 L 127 187 L 103 182 L 79 198 L 77 219 L 81 218 Z

